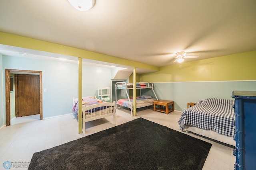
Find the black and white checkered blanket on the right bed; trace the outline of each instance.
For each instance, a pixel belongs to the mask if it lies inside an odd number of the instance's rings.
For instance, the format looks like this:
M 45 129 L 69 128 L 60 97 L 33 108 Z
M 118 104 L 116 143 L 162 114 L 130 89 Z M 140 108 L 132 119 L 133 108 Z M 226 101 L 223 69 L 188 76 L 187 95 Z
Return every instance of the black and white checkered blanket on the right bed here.
M 185 125 L 212 130 L 222 135 L 233 137 L 235 126 L 234 100 L 209 98 L 185 109 L 178 120 L 180 130 Z

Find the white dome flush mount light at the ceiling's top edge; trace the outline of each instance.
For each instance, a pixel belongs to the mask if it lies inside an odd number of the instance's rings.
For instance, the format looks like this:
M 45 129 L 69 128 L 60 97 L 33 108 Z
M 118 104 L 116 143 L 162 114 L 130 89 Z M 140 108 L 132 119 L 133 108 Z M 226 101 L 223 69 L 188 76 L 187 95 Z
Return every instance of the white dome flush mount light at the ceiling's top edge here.
M 95 0 L 68 0 L 68 2 L 80 11 L 87 11 L 95 4 Z

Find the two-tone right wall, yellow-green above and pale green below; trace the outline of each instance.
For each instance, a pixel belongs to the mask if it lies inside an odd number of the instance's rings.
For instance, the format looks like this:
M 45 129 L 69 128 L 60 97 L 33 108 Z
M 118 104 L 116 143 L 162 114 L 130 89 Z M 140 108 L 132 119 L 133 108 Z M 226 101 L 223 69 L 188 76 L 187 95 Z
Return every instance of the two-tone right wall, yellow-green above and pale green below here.
M 256 51 L 160 67 L 159 72 L 140 75 L 154 82 L 158 99 L 173 100 L 183 111 L 187 103 L 205 98 L 231 99 L 232 91 L 256 91 Z M 154 96 L 150 90 L 145 92 Z

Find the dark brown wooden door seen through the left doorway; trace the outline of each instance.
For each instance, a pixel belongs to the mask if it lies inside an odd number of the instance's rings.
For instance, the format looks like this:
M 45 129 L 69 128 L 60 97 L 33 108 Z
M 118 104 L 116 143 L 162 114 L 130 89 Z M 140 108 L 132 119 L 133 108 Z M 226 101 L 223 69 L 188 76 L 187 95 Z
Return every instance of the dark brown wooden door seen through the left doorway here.
M 16 117 L 40 114 L 40 76 L 16 74 Z

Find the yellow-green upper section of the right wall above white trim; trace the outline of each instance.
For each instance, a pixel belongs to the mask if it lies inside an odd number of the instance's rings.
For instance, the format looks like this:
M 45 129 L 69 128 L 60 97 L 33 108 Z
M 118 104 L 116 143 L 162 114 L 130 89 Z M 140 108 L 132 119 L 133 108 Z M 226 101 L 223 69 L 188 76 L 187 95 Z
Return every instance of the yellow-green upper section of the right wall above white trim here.
M 140 81 L 195 82 L 256 80 L 256 51 L 160 67 L 140 75 Z

